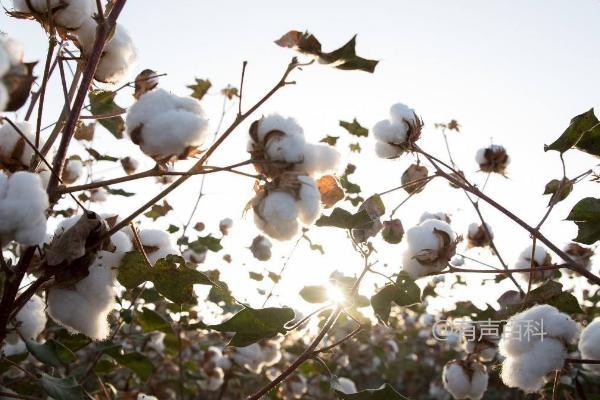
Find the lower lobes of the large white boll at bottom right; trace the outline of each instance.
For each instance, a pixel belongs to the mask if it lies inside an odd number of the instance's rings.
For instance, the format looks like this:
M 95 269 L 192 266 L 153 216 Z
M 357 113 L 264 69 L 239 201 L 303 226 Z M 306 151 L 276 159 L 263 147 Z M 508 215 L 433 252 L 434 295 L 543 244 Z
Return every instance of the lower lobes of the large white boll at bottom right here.
M 525 393 L 537 392 L 544 385 L 547 374 L 563 367 L 565 357 L 565 347 L 559 340 L 544 338 L 536 341 L 531 351 L 507 357 L 502 363 L 500 377 L 508 387 L 519 388 Z

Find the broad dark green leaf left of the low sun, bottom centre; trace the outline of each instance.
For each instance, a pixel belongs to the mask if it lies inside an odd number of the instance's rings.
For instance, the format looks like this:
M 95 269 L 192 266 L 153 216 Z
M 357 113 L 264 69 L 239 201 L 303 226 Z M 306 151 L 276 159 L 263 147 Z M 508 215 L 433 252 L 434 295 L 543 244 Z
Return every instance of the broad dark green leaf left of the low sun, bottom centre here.
M 244 308 L 229 320 L 218 324 L 209 325 L 209 329 L 219 332 L 235 333 L 229 346 L 245 347 L 262 339 L 285 333 L 284 326 L 294 319 L 291 308 Z

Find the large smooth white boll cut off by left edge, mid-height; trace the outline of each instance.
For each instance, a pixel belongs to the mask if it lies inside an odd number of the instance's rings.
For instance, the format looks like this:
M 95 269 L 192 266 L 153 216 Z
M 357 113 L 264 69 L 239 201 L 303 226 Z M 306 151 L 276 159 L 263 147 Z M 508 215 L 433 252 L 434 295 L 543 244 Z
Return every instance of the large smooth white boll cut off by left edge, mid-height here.
M 11 240 L 31 246 L 46 237 L 48 195 L 36 174 L 0 171 L 0 245 Z

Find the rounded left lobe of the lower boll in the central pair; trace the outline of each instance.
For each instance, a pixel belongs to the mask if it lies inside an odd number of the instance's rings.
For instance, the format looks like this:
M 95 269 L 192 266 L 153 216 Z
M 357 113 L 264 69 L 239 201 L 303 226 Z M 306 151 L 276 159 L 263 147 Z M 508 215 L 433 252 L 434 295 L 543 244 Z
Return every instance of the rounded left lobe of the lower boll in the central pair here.
M 277 240 L 290 240 L 298 234 L 299 207 L 287 192 L 271 192 L 254 208 L 256 226 Z

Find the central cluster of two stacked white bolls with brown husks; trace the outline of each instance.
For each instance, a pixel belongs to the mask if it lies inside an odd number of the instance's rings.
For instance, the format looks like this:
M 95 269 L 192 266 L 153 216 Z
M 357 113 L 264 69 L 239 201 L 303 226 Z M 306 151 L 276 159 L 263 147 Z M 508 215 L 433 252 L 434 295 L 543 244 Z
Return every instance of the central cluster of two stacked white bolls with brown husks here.
M 335 171 L 340 154 L 331 146 L 308 143 L 293 118 L 277 114 L 252 124 L 248 152 L 256 170 L 269 178 L 252 200 L 255 224 L 274 239 L 289 240 L 320 215 L 314 178 Z

